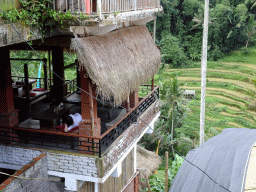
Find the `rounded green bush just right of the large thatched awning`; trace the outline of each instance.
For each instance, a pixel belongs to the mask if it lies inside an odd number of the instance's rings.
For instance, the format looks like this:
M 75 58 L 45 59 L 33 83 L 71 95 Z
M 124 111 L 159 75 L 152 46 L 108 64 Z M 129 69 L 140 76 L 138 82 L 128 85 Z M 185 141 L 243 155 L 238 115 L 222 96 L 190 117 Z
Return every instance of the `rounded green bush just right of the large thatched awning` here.
M 170 64 L 174 68 L 188 66 L 188 58 L 176 37 L 168 34 L 161 40 L 160 44 L 164 63 Z

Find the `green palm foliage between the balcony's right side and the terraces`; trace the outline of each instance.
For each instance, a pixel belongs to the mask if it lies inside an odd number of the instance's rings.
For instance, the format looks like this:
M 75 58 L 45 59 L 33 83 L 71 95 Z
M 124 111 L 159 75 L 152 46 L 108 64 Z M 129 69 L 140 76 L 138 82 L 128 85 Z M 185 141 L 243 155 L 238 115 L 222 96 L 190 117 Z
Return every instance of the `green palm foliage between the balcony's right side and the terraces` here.
M 187 112 L 187 101 L 183 98 L 183 89 L 180 88 L 176 76 L 172 80 L 160 82 L 160 99 L 161 116 L 156 123 L 156 131 L 164 139 L 159 145 L 159 154 L 164 154 L 170 150 L 171 145 L 177 143 L 175 132 L 182 126 Z M 155 150 L 159 139 L 155 134 L 145 135 L 141 144 L 149 150 Z

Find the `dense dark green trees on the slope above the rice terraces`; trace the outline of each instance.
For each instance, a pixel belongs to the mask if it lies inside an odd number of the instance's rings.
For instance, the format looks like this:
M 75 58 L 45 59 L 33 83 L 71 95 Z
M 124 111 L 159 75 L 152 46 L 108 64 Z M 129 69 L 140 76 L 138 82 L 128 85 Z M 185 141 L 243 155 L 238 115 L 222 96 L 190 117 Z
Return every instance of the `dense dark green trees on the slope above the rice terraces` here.
M 157 42 L 162 45 L 163 62 L 174 62 L 172 67 L 180 67 L 186 59 L 200 60 L 204 5 L 199 0 L 163 0 L 164 14 L 157 18 Z M 253 15 L 256 13 L 254 0 L 213 0 L 210 2 L 208 30 L 208 59 L 216 61 L 226 53 L 242 46 L 253 45 L 256 28 Z M 176 41 L 168 46 L 170 33 Z M 172 42 L 172 41 L 170 41 Z M 177 45 L 178 44 L 178 45 Z M 174 47 L 177 48 L 174 50 Z M 172 51 L 181 58 L 167 53 Z M 185 56 L 185 57 L 184 57 Z M 185 62 L 184 62 L 185 61 Z M 188 66 L 190 66 L 189 63 Z M 184 65 L 183 65 L 184 66 Z

